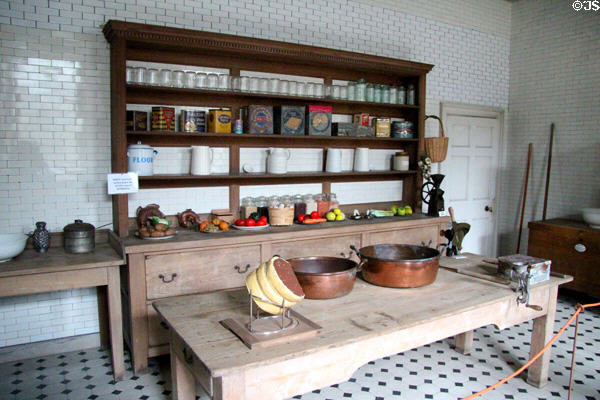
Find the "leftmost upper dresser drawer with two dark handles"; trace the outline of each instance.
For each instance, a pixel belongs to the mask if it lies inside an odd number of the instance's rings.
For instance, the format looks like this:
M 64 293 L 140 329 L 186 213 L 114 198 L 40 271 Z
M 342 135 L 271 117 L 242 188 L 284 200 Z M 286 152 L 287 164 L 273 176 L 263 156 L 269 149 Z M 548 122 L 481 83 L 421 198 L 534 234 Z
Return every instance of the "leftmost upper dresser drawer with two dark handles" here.
M 260 246 L 239 246 L 146 257 L 149 300 L 244 286 L 260 264 Z

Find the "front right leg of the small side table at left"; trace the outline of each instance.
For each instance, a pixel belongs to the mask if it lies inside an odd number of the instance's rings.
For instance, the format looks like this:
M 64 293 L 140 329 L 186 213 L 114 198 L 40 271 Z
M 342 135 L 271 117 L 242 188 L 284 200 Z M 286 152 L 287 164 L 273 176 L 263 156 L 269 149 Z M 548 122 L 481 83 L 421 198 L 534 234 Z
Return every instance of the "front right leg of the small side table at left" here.
M 106 270 L 108 274 L 108 318 L 113 373 L 115 380 L 121 380 L 125 375 L 125 360 L 123 359 L 123 317 L 121 315 L 119 266 L 107 267 Z

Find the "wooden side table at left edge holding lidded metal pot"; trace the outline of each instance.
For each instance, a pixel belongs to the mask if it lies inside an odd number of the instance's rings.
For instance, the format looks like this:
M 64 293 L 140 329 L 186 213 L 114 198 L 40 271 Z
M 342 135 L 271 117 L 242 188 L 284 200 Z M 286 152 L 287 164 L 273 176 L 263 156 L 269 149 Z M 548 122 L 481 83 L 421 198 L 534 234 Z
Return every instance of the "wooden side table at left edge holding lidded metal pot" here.
M 95 250 L 85 254 L 69 254 L 59 246 L 45 253 L 28 248 L 0 264 L 0 297 L 106 286 L 113 371 L 118 380 L 125 371 L 119 279 L 125 258 L 113 246 L 120 250 L 117 241 L 96 243 Z M 99 299 L 99 312 L 104 313 L 100 308 Z

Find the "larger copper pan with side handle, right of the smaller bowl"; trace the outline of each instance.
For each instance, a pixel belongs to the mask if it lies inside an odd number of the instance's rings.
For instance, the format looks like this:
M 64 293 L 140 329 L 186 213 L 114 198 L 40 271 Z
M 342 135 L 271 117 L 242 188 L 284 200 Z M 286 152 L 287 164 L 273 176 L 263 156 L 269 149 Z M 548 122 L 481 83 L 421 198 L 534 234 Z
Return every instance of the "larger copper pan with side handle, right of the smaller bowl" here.
M 411 288 L 435 281 L 440 252 L 426 246 L 376 244 L 357 250 L 362 277 L 379 286 Z

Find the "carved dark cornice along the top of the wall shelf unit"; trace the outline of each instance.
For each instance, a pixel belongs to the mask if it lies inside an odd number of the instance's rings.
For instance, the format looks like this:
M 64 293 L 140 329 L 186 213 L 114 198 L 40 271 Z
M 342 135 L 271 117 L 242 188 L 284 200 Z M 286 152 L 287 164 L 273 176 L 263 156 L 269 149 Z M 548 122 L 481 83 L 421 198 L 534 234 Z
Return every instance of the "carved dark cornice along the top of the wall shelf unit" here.
M 323 66 L 348 65 L 351 69 L 413 76 L 426 74 L 433 68 L 430 64 L 323 47 L 114 20 L 106 23 L 103 32 L 110 43 L 119 37 L 125 39 L 128 47 L 179 47 L 189 52 L 218 52 L 224 56 L 261 57 L 273 61 Z

